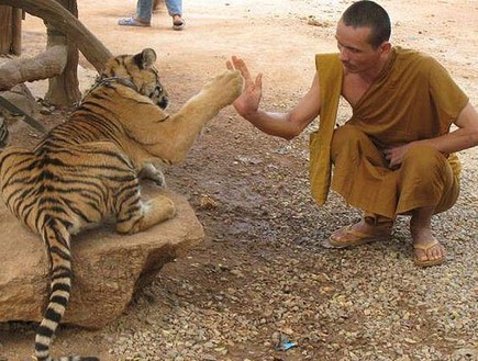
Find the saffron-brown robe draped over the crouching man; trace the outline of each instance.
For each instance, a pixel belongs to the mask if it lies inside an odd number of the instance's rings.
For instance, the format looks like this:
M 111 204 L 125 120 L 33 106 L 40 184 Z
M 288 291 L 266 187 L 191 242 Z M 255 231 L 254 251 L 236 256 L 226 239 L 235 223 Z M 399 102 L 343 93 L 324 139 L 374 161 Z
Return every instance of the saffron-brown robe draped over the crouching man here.
M 337 55 L 316 56 L 321 94 L 330 89 L 336 91 L 334 80 L 340 82 L 342 92 L 343 68 L 337 64 Z M 329 98 L 333 102 L 322 102 L 325 111 L 321 109 L 320 114 L 320 125 L 327 131 L 334 128 L 336 120 L 335 97 Z M 382 150 L 448 133 L 467 102 L 466 94 L 432 57 L 393 48 L 375 83 L 353 106 L 352 119 L 333 131 L 333 139 L 311 137 L 311 187 L 315 200 L 323 204 L 326 199 L 333 162 L 333 190 L 366 212 L 392 218 L 422 206 L 435 206 L 435 212 L 449 208 L 459 191 L 460 165 L 456 155 L 412 147 L 401 167 L 392 170 Z M 335 114 L 330 108 L 335 108 Z M 326 151 L 329 169 L 318 161 Z M 318 194 L 325 198 L 316 198 Z

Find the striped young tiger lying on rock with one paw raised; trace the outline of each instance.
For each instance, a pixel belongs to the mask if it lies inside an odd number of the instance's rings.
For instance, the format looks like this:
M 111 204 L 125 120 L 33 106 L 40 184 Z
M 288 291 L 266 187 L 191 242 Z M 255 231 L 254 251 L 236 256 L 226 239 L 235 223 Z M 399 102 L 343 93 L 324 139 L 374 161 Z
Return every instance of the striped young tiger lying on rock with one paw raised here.
M 155 61 L 149 48 L 111 58 L 67 122 L 33 150 L 9 147 L 0 154 L 1 195 L 42 236 L 51 263 L 48 305 L 35 338 L 38 361 L 98 360 L 51 356 L 70 296 L 71 236 L 111 216 L 120 234 L 171 218 L 175 205 L 168 198 L 141 200 L 140 172 L 162 183 L 163 174 L 152 163 L 181 161 L 205 123 L 242 91 L 240 72 L 225 70 L 168 114 Z

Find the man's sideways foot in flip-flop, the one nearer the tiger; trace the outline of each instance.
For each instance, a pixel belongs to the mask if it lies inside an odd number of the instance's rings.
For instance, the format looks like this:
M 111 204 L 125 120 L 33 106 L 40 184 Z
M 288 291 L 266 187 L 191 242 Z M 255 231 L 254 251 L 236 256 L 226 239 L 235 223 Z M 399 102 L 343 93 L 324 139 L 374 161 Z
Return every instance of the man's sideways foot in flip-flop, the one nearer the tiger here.
M 390 237 L 390 225 L 377 229 L 378 232 L 374 234 L 355 230 L 352 228 L 353 226 L 354 225 L 348 225 L 334 232 L 327 240 L 331 248 L 355 247 Z

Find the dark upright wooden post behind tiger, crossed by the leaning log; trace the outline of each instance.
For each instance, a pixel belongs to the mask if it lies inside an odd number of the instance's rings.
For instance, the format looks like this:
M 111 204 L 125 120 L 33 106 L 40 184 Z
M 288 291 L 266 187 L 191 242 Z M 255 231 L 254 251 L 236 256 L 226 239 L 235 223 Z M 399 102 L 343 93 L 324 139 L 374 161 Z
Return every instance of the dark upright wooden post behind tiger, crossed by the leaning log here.
M 78 8 L 76 0 L 56 0 L 75 18 L 78 18 Z M 78 48 L 75 43 L 69 40 L 64 33 L 51 26 L 47 22 L 47 47 L 55 45 L 66 45 L 68 49 L 67 63 L 62 75 L 48 79 L 48 91 L 45 94 L 45 100 L 54 105 L 70 106 L 81 99 L 78 81 Z

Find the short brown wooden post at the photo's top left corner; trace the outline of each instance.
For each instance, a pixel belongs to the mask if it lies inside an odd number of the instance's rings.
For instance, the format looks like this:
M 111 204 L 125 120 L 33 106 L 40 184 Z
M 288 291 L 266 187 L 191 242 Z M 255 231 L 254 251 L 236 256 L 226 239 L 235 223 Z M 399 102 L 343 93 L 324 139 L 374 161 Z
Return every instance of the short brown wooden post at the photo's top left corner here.
M 22 10 L 0 5 L 0 55 L 20 55 L 22 47 Z

